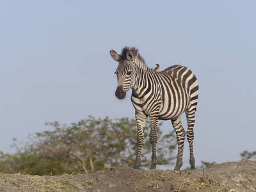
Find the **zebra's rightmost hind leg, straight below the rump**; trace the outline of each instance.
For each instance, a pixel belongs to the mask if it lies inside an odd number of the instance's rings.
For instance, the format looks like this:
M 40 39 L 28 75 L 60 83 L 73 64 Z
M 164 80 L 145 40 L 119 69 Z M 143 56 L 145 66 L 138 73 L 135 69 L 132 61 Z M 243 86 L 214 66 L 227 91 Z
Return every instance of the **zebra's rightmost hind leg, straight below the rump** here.
M 187 131 L 187 138 L 189 143 L 189 164 L 191 166 L 191 170 L 195 170 L 195 157 L 193 152 L 193 140 L 194 140 L 194 125 L 195 125 L 195 109 L 192 109 L 189 111 L 189 109 L 186 111 L 186 115 L 188 118 L 188 131 Z

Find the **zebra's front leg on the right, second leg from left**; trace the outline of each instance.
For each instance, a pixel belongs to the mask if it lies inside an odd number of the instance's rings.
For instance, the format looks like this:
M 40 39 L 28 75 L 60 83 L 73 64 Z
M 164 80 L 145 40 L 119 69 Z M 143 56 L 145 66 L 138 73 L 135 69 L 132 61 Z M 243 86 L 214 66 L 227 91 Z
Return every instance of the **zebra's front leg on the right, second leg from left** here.
M 158 118 L 150 117 L 150 134 L 149 139 L 152 145 L 152 163 L 150 169 L 156 169 L 157 157 L 156 157 L 156 143 L 157 143 L 157 124 Z

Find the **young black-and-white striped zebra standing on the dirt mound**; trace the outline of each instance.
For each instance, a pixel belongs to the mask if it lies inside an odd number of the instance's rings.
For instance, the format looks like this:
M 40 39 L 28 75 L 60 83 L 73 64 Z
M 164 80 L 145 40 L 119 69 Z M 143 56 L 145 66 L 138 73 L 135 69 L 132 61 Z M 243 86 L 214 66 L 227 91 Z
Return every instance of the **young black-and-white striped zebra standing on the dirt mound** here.
M 141 148 L 147 117 L 150 117 L 150 142 L 152 144 L 152 164 L 156 168 L 156 143 L 158 120 L 172 120 L 178 141 L 178 156 L 174 170 L 182 166 L 184 140 L 186 131 L 180 122 L 180 115 L 186 113 L 188 119 L 187 138 L 189 142 L 191 170 L 195 169 L 193 155 L 193 127 L 198 101 L 198 82 L 195 75 L 186 67 L 174 65 L 161 72 L 148 68 L 145 60 L 135 47 L 124 47 L 122 54 L 111 50 L 113 60 L 118 61 L 116 69 L 118 85 L 115 95 L 124 99 L 131 88 L 131 101 L 135 108 L 137 132 L 137 154 L 134 168 L 141 165 Z

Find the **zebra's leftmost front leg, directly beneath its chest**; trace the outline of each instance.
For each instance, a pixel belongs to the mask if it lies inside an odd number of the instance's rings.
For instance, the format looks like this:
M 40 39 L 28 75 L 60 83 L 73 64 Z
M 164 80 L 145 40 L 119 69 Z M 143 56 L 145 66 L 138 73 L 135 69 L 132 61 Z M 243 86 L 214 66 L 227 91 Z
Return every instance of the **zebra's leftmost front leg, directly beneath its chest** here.
M 141 148 L 144 142 L 144 131 L 147 116 L 144 113 L 137 113 L 136 112 L 136 122 L 137 122 L 137 155 L 134 163 L 134 168 L 138 169 L 141 165 Z

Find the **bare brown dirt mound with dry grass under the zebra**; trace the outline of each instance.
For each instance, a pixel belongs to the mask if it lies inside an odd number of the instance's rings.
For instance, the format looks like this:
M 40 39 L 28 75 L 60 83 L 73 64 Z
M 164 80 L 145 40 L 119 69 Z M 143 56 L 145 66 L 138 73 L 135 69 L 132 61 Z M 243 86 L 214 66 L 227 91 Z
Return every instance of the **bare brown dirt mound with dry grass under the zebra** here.
M 0 191 L 256 191 L 256 161 L 180 172 L 115 167 L 89 174 L 0 177 Z

